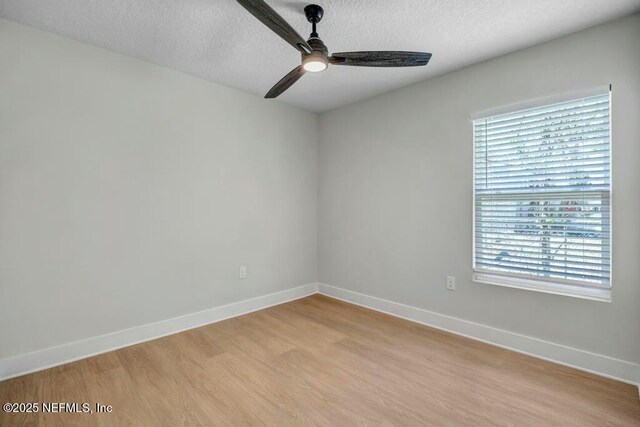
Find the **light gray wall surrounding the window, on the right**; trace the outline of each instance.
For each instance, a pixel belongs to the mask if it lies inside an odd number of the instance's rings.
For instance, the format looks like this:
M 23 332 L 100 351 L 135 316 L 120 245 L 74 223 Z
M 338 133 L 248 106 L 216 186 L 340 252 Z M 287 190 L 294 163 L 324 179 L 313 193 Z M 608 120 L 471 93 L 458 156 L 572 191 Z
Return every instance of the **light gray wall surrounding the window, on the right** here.
M 321 115 L 319 281 L 640 362 L 639 45 L 634 15 Z M 613 302 L 472 283 L 469 115 L 604 84 Z

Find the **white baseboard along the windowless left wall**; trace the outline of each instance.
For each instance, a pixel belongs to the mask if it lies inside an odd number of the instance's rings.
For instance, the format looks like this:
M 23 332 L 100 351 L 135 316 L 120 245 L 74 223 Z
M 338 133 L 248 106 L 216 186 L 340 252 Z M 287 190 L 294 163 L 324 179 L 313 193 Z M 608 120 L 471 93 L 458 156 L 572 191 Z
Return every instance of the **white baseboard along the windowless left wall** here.
M 315 294 L 317 290 L 317 284 L 310 283 L 197 313 L 0 359 L 0 381 L 304 298 Z

